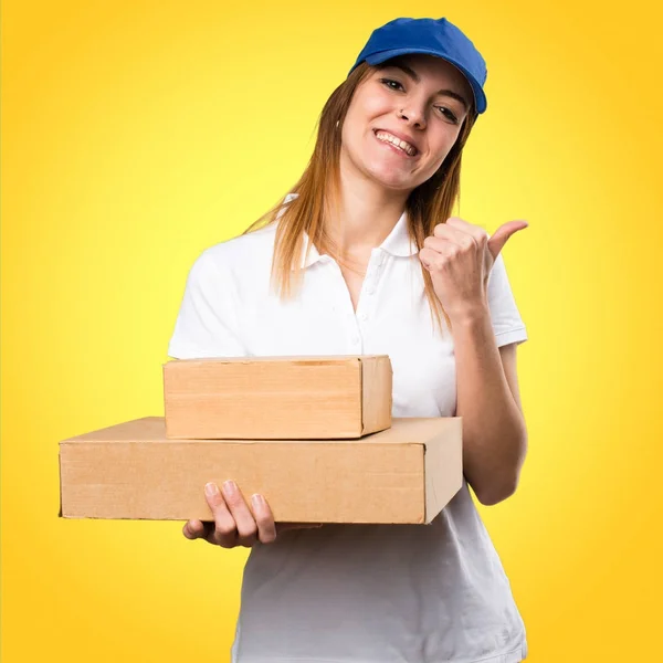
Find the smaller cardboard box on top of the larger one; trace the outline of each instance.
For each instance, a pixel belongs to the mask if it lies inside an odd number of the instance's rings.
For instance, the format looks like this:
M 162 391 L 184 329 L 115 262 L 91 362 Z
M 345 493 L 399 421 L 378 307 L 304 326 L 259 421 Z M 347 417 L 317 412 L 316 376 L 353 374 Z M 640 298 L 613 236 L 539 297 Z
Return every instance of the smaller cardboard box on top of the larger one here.
M 177 359 L 164 366 L 172 439 L 360 438 L 391 425 L 387 355 Z

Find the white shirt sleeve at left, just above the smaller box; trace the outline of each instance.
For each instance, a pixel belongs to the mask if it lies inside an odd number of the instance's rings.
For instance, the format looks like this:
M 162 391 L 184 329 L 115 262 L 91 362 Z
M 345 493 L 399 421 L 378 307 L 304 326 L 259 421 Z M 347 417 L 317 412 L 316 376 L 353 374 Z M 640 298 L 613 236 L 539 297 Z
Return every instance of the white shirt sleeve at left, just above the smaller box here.
M 193 263 L 168 356 L 175 359 L 244 357 L 248 355 L 238 333 L 232 284 L 208 250 Z

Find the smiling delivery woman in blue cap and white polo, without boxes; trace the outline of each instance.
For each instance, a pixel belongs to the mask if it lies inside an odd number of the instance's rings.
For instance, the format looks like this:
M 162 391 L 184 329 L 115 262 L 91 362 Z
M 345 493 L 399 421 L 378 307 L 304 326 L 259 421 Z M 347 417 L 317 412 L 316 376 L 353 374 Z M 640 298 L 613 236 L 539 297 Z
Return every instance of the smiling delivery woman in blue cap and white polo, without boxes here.
M 527 438 L 516 373 L 527 336 L 499 255 L 527 224 L 487 238 L 450 218 L 485 77 L 444 19 L 376 30 L 325 105 L 305 173 L 263 218 L 273 222 L 191 269 L 170 356 L 387 354 L 394 417 L 463 417 L 466 481 L 430 526 L 277 527 L 264 497 L 249 506 L 232 482 L 206 486 L 215 520 L 191 520 L 185 536 L 252 547 L 236 663 L 526 655 L 469 491 L 508 497 Z

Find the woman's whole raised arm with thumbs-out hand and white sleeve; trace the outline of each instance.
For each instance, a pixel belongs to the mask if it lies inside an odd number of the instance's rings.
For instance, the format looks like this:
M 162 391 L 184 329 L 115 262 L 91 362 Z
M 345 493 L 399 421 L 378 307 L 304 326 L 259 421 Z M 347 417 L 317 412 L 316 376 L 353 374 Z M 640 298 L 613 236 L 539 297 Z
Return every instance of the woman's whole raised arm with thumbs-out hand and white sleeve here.
M 509 221 L 488 238 L 485 230 L 451 217 L 419 252 L 451 324 L 465 477 L 486 505 L 515 492 L 527 449 L 514 345 L 518 337 L 524 340 L 524 327 L 499 255 L 527 225 Z M 503 334 L 511 343 L 499 350 L 496 336 Z

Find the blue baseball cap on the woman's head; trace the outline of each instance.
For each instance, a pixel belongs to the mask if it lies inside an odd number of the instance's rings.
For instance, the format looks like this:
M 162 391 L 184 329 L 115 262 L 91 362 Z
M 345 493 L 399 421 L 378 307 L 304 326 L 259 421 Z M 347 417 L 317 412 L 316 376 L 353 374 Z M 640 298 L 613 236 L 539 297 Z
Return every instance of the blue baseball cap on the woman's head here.
M 375 65 L 411 53 L 435 55 L 453 64 L 472 86 L 476 112 L 485 112 L 486 63 L 470 39 L 446 19 L 394 19 L 373 30 L 348 76 L 365 60 Z

